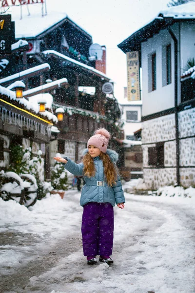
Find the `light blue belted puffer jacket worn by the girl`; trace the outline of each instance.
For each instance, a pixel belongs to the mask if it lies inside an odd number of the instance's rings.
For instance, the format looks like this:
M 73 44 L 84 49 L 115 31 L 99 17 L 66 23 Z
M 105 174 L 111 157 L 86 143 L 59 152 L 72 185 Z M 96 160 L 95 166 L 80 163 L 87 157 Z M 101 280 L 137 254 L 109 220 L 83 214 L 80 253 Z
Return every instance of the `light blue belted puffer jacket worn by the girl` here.
M 86 149 L 83 154 L 86 154 L 87 152 L 88 149 Z M 117 152 L 108 149 L 106 153 L 109 155 L 111 161 L 116 164 L 118 159 Z M 76 176 L 82 175 L 86 182 L 82 188 L 80 197 L 80 205 L 82 207 L 89 202 L 111 203 L 113 207 L 116 203 L 125 203 L 119 175 L 117 176 L 116 184 L 113 187 L 108 186 L 104 175 L 103 162 L 99 157 L 94 158 L 96 173 L 95 176 L 91 178 L 83 175 L 83 163 L 76 164 L 67 157 L 64 159 L 68 161 L 66 164 L 62 163 L 64 168 Z M 98 181 L 104 181 L 104 186 L 98 186 Z

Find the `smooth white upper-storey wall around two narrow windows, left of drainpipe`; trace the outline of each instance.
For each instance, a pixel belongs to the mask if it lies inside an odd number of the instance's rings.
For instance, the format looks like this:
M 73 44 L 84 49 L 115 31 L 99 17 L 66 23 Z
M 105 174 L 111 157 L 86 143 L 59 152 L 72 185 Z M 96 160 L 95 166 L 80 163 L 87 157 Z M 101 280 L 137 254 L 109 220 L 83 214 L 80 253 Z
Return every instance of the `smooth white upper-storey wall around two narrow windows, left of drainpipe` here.
M 176 31 L 175 31 L 176 33 Z M 162 83 L 162 46 L 171 43 L 172 51 L 172 83 L 163 86 Z M 149 92 L 148 79 L 148 56 L 156 53 L 156 90 Z M 174 107 L 174 43 L 167 30 L 160 31 L 153 38 L 141 44 L 141 64 L 142 64 L 142 116 L 153 114 L 165 109 Z

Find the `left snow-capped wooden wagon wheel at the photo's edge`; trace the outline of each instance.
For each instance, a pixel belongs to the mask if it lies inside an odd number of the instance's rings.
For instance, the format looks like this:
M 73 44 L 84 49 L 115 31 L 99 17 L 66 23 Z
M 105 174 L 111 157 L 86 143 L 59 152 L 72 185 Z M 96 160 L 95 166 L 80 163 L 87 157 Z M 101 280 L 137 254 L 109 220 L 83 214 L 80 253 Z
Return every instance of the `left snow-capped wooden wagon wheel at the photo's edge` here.
M 24 187 L 22 180 L 15 172 L 6 172 L 0 176 L 0 197 L 8 201 L 16 200 L 20 205 L 24 200 Z

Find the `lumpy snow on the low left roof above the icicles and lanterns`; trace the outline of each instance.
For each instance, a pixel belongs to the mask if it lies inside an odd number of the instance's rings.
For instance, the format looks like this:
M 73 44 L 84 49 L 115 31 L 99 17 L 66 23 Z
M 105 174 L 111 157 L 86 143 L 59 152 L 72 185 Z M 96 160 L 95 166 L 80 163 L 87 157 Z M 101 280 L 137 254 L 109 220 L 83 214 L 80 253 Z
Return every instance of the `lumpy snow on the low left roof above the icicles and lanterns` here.
M 6 87 L 3 87 L 1 85 L 0 85 L 0 94 L 7 96 L 10 100 L 17 101 L 19 105 L 23 105 L 27 110 L 32 110 L 37 114 L 39 113 L 39 116 L 44 116 L 47 120 L 53 121 L 54 123 L 58 122 L 58 118 L 54 114 L 48 111 L 39 112 L 39 108 L 37 107 L 38 103 L 36 105 L 35 102 L 29 102 L 24 98 L 16 99 L 16 93 L 14 91 Z

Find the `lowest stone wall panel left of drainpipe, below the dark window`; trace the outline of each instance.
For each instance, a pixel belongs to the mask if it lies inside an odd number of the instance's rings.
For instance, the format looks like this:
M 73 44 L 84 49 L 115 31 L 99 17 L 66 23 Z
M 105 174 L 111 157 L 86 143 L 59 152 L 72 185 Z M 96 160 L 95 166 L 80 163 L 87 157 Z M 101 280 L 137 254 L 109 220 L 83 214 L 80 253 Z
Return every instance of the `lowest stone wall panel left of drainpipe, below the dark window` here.
M 143 178 L 147 189 L 174 185 L 176 184 L 176 168 L 143 169 Z

